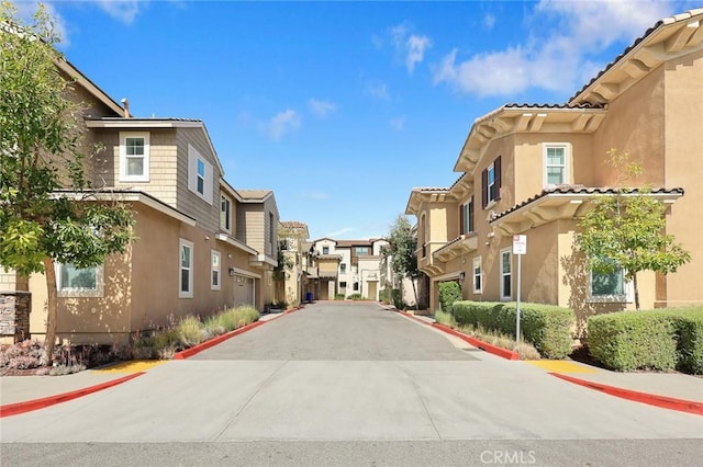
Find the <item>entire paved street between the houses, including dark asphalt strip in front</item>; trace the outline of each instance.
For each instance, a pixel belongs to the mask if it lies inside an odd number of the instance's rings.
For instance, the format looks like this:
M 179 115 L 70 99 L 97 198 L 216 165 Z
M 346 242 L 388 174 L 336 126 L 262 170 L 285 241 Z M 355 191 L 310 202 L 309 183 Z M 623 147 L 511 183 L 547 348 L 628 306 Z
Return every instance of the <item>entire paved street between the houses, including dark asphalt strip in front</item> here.
M 2 465 L 48 454 L 60 465 L 700 459 L 699 415 L 467 345 L 376 304 L 315 304 L 121 386 L 2 419 Z

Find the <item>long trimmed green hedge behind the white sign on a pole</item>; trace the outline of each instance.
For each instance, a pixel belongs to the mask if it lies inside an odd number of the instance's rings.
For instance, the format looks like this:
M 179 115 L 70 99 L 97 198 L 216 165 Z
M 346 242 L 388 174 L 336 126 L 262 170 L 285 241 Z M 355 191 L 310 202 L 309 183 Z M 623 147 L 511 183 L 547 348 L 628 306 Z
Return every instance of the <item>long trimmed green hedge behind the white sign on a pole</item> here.
M 454 316 L 459 324 L 471 324 L 505 334 L 516 333 L 515 303 L 457 301 Z M 553 305 L 521 304 L 521 334 L 547 358 L 563 358 L 571 353 L 571 328 L 576 316 L 569 308 Z

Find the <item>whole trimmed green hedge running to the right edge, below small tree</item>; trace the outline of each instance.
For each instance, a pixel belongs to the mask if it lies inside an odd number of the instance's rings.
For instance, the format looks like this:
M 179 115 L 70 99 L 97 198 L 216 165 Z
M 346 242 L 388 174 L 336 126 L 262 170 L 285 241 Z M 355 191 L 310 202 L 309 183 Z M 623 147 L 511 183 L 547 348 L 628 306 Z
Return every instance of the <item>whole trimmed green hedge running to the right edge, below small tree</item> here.
M 703 374 L 703 307 L 593 316 L 588 342 L 591 355 L 616 371 Z

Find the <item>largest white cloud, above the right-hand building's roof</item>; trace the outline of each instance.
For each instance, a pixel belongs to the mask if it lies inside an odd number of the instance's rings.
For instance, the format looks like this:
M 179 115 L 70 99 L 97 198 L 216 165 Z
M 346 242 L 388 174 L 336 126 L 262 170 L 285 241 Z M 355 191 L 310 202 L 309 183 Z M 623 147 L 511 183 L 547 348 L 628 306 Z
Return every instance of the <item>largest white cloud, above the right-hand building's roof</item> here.
M 569 93 L 603 67 L 600 54 L 634 41 L 669 14 L 671 4 L 659 0 L 543 0 L 522 44 L 466 59 L 454 49 L 435 67 L 434 82 L 481 96 L 509 96 L 528 88 Z

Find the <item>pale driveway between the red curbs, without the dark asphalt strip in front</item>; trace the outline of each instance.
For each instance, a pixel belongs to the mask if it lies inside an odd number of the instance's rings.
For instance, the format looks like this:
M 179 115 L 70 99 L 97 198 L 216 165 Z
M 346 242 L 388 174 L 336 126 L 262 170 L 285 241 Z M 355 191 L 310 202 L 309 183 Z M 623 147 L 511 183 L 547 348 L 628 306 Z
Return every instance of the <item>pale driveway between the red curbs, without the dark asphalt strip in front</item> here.
M 3 419 L 2 442 L 602 445 L 703 435 L 698 415 L 594 392 L 467 345 L 377 304 L 320 303 L 129 384 Z

